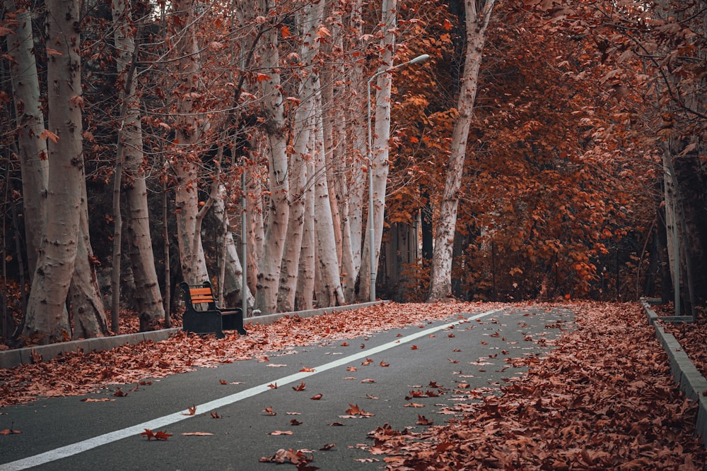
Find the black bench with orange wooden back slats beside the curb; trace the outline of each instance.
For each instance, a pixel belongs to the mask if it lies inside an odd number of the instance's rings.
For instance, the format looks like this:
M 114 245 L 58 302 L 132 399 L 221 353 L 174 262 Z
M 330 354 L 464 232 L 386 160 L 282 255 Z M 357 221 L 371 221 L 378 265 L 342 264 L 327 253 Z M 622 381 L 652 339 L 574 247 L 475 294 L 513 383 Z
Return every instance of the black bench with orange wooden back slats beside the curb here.
M 238 330 L 241 335 L 247 334 L 243 328 L 243 310 L 219 307 L 210 282 L 193 286 L 182 281 L 180 287 L 187 307 L 182 317 L 182 330 L 199 334 L 215 333 L 217 338 L 226 336 L 223 330 Z

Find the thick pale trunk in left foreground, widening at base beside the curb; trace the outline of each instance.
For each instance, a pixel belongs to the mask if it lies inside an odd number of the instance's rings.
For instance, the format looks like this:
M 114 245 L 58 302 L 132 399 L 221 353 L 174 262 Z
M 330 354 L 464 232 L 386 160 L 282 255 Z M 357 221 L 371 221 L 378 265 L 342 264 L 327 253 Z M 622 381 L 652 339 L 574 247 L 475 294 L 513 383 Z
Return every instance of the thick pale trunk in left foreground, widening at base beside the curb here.
M 25 339 L 40 343 L 70 337 L 66 296 L 76 264 L 81 186 L 85 184 L 81 147 L 81 40 L 74 28 L 79 20 L 78 3 L 49 0 L 47 10 L 51 178 L 47 186 L 47 224 L 22 331 Z

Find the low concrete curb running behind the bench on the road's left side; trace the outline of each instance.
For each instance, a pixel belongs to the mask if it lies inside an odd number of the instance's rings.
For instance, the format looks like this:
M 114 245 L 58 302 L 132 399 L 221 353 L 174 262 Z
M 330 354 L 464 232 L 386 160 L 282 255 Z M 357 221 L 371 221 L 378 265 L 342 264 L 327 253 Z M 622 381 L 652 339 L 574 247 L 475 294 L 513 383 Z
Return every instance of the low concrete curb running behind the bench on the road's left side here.
M 321 314 L 329 314 L 336 311 L 346 311 L 349 309 L 358 309 L 361 307 L 375 306 L 386 301 L 364 302 L 360 304 L 349 304 L 346 306 L 327 307 L 322 309 L 310 309 L 308 311 L 293 311 L 283 312 L 278 314 L 269 314 L 267 316 L 256 316 L 243 319 L 245 327 L 255 324 L 269 324 L 277 321 L 285 316 L 300 316 L 311 317 Z M 16 348 L 12 350 L 4 350 L 0 352 L 0 369 L 9 369 L 25 363 L 48 362 L 50 359 L 59 356 L 62 353 L 76 352 L 95 352 L 96 350 L 110 350 L 119 345 L 136 345 L 140 342 L 160 342 L 167 340 L 175 333 L 179 332 L 180 328 L 169 328 L 161 330 L 152 330 L 151 332 L 129 333 L 125 335 L 113 335 L 112 337 L 87 338 L 82 340 L 71 340 L 71 342 L 54 343 L 52 345 L 37 345 L 35 347 Z

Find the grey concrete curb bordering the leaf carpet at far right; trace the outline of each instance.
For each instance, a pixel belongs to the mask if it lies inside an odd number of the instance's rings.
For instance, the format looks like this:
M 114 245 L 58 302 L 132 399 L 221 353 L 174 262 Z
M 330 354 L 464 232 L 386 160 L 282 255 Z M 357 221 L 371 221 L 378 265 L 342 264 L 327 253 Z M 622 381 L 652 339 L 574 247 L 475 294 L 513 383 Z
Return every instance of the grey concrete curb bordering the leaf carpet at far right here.
M 655 328 L 655 337 L 665 348 L 675 383 L 679 385 L 686 398 L 699 404 L 695 431 L 701 437 L 703 445 L 707 446 L 707 397 L 703 395 L 707 391 L 707 379 L 702 376 L 686 352 L 682 350 L 682 346 L 675 336 L 665 332 L 665 328 L 656 322 L 659 318 L 663 322 L 692 322 L 692 316 L 658 316 L 653 309 L 650 309 L 650 300 L 641 299 L 641 304 L 643 304 L 648 323 Z

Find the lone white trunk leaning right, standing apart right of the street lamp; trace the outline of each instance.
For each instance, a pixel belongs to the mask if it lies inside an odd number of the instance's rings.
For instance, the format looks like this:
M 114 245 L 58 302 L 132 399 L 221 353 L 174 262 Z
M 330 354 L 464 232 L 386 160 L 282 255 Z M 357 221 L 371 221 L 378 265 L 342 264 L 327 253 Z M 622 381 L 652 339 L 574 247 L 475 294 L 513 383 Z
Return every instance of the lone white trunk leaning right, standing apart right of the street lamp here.
M 452 246 L 457 225 L 457 206 L 459 189 L 464 172 L 464 157 L 467 151 L 469 125 L 474 113 L 474 101 L 477 97 L 479 67 L 486 40 L 486 28 L 489 25 L 495 0 L 466 1 L 466 58 L 462 90 L 457 102 L 459 118 L 452 131 L 445 188 L 435 227 L 434 248 L 432 253 L 432 273 L 428 301 L 442 301 L 452 296 Z M 477 4 L 479 4 L 477 9 Z

